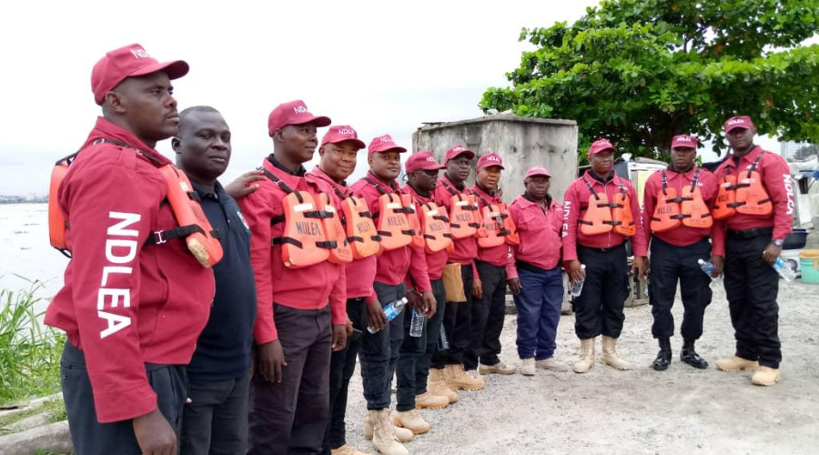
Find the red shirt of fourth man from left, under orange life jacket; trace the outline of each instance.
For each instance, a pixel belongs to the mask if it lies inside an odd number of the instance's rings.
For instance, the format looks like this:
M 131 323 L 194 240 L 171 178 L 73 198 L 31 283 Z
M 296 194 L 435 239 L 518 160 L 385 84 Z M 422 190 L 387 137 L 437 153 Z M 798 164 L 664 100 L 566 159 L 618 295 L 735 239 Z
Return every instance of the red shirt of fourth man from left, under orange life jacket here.
M 321 191 L 333 197 L 333 204 L 341 212 L 341 197 L 352 196 L 352 188 L 344 183 L 336 183 L 318 166 L 305 175 L 309 182 L 315 183 Z M 338 193 L 337 193 L 338 191 Z M 370 210 L 371 213 L 371 210 Z M 374 293 L 372 282 L 376 273 L 376 257 L 356 259 L 344 266 L 344 275 L 347 278 L 347 298 L 371 298 Z

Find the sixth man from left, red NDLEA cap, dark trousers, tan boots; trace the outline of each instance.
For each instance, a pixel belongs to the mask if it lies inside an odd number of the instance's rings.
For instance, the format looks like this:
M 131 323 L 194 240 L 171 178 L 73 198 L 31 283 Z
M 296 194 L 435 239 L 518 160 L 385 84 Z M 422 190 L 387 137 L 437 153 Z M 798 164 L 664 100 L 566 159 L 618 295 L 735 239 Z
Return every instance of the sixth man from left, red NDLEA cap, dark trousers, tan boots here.
M 407 185 L 401 188 L 401 192 L 412 197 L 415 212 L 418 217 L 423 217 L 423 205 L 432 202 L 432 190 L 435 189 L 438 173 L 443 166 L 440 166 L 435 156 L 427 151 L 414 153 L 407 159 L 404 166 L 407 171 Z M 444 248 L 435 253 L 425 251 L 424 256 L 427 261 L 432 294 L 435 296 L 437 305 L 429 308 L 426 314 L 426 325 L 420 337 L 410 335 L 411 315 L 404 318 L 404 341 L 399 349 L 399 365 L 402 363 L 408 365 L 401 365 L 401 368 L 398 369 L 400 374 L 395 406 L 396 420 L 399 420 L 402 427 L 418 434 L 429 431 L 430 424 L 421 418 L 416 408 L 440 409 L 450 404 L 450 396 L 454 396 L 455 400 L 458 399 L 457 394 L 448 388 L 444 391 L 446 395 L 438 395 L 435 393 L 436 390 L 427 389 L 430 359 L 438 345 L 440 324 L 446 305 L 446 293 L 440 276 L 447 264 L 447 250 Z M 407 279 L 407 287 L 408 298 L 418 300 L 421 294 L 415 289 L 414 280 L 411 277 Z M 416 302 L 414 306 L 418 308 L 422 304 Z

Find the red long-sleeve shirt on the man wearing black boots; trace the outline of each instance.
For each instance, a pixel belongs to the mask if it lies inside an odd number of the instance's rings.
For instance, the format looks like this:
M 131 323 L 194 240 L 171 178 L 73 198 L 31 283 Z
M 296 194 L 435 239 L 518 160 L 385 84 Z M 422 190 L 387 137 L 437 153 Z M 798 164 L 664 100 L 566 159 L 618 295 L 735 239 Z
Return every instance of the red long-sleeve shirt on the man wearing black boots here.
M 665 170 L 668 187 L 674 188 L 678 196 L 682 195 L 683 187 L 691 187 L 691 182 L 694 174 L 696 174 L 697 168 L 698 167 L 694 166 L 688 172 L 679 173 L 674 170 L 673 167 L 668 167 Z M 699 169 L 700 177 L 697 178 L 697 187 L 700 188 L 700 193 L 703 195 L 705 205 L 710 209 L 713 206 L 713 199 L 716 198 L 719 187 L 717 186 L 716 177 L 713 177 L 712 173 L 702 167 Z M 651 242 L 652 234 L 657 238 L 661 238 L 662 241 L 677 247 L 693 245 L 704 237 L 712 235 L 712 232 L 714 238 L 724 236 L 723 229 L 713 229 L 713 227 L 711 229 L 701 229 L 698 227 L 687 227 L 685 225 L 665 232 L 652 232 L 652 217 L 654 215 L 654 209 L 657 207 L 657 195 L 660 194 L 661 190 L 662 171 L 653 173 L 645 182 L 645 189 L 643 190 L 642 227 L 645 230 L 646 244 Z

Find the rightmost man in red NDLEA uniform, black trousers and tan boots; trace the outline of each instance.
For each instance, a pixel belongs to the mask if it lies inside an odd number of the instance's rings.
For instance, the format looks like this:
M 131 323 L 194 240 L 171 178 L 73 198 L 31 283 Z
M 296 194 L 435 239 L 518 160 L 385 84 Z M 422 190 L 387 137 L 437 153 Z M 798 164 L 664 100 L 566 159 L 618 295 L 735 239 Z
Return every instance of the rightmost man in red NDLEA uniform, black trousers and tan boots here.
M 720 184 L 726 176 L 734 176 L 742 183 L 751 179 L 751 172 L 758 173 L 759 182 L 747 183 L 761 184 L 756 202 L 773 206 L 766 215 L 742 213 L 737 207 L 733 216 L 719 222 L 727 228 L 726 239 L 723 245 L 714 236 L 713 249 L 715 255 L 725 257 L 725 294 L 731 309 L 736 351 L 732 358 L 717 360 L 716 365 L 723 371 L 756 369 L 752 383 L 773 386 L 782 378 L 779 372 L 782 350 L 776 304 L 779 276 L 771 266 L 792 231 L 794 187 L 791 169 L 783 157 L 755 146 L 755 135 L 750 117 L 728 119 L 725 136 L 733 153 L 714 173 Z

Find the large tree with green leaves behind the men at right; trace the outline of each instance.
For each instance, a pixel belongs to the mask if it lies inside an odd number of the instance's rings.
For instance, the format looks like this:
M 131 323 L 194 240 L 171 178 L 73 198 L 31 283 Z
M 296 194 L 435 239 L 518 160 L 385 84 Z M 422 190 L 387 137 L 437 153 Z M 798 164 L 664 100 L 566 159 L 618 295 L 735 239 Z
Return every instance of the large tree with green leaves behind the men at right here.
M 605 0 L 573 25 L 524 28 L 511 87 L 487 111 L 578 122 L 581 150 L 608 137 L 635 156 L 667 156 L 672 136 L 727 146 L 730 116 L 761 134 L 819 142 L 819 0 Z

